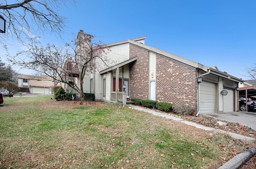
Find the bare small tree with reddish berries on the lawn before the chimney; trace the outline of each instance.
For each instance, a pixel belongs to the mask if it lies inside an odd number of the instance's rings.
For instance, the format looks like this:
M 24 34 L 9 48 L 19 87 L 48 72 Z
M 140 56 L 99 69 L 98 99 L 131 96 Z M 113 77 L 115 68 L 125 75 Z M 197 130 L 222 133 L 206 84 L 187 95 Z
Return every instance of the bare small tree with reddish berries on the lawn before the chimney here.
M 15 56 L 9 55 L 8 61 L 13 65 L 46 74 L 56 82 L 66 83 L 81 95 L 82 100 L 85 75 L 108 67 L 106 54 L 110 49 L 102 45 L 102 42 L 94 41 L 93 35 L 83 33 L 64 46 L 48 44 L 43 47 L 36 38 L 30 41 L 28 50 L 20 51 Z M 21 56 L 26 56 L 26 59 Z

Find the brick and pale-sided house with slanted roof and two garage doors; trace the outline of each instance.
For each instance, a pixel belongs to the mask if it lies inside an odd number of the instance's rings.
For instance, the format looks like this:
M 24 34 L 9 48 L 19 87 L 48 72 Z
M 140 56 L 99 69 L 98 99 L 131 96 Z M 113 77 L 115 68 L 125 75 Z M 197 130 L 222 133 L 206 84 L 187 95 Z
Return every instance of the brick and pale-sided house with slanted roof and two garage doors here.
M 112 63 L 84 78 L 84 90 L 105 102 L 122 100 L 119 89 L 131 98 L 190 105 L 200 114 L 238 111 L 238 83 L 243 80 L 145 45 L 145 38 L 105 45 Z

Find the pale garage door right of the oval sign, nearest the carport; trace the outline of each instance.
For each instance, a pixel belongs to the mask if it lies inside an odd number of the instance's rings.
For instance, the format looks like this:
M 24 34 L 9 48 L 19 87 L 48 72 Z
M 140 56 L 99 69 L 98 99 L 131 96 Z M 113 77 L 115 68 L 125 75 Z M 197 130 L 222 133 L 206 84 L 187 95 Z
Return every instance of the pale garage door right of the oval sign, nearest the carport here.
M 234 112 L 234 90 L 224 89 L 228 94 L 223 96 L 223 112 Z

